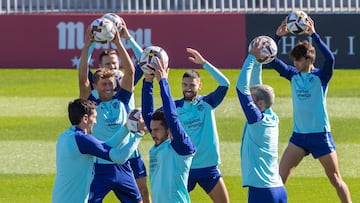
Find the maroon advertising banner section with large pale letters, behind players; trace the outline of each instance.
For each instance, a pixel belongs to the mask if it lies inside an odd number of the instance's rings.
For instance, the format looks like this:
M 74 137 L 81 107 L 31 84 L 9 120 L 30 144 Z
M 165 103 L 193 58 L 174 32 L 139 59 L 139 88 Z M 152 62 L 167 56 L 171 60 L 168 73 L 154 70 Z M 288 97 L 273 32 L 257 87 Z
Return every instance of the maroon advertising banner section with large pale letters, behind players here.
M 87 26 L 98 14 L 0 15 L 0 68 L 74 68 L 79 63 Z M 127 14 L 131 35 L 144 48 L 160 46 L 172 68 L 199 68 L 188 60 L 186 47 L 197 49 L 219 68 L 236 68 L 245 57 L 243 14 Z M 133 60 L 130 47 L 124 42 Z M 97 44 L 90 65 L 97 67 Z

